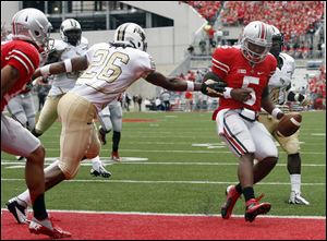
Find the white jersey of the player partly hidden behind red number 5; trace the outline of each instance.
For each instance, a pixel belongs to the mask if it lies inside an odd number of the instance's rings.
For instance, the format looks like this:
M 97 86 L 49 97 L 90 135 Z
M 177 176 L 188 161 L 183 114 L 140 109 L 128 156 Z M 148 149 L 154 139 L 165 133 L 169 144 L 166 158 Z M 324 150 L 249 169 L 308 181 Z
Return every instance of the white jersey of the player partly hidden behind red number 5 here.
M 287 87 L 291 84 L 295 70 L 295 61 L 291 56 L 281 52 L 279 57 L 283 64 L 281 69 L 276 68 L 276 72 L 268 83 L 270 99 L 275 105 L 282 105 L 287 101 Z

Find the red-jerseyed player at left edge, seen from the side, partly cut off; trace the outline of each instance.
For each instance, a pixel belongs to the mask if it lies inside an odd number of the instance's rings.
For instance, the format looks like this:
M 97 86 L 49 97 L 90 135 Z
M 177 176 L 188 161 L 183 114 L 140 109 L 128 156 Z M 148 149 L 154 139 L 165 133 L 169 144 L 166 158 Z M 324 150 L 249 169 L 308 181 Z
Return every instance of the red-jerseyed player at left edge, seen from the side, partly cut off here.
M 19 11 L 12 21 L 13 40 L 1 45 L 1 150 L 26 157 L 25 180 L 34 217 L 26 218 L 23 200 L 12 198 L 5 205 L 19 224 L 29 222 L 29 232 L 51 238 L 71 237 L 53 227 L 45 204 L 45 148 L 38 138 L 17 121 L 4 116 L 3 108 L 29 82 L 47 51 L 51 24 L 36 9 Z

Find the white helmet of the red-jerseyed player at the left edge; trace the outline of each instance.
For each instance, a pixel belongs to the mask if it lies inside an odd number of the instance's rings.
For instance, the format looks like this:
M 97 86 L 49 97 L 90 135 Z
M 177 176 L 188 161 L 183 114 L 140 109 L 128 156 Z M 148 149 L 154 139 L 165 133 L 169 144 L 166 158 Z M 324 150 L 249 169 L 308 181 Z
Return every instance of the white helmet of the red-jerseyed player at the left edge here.
M 12 19 L 12 38 L 33 43 L 39 52 L 49 48 L 51 28 L 47 16 L 37 9 L 23 9 Z

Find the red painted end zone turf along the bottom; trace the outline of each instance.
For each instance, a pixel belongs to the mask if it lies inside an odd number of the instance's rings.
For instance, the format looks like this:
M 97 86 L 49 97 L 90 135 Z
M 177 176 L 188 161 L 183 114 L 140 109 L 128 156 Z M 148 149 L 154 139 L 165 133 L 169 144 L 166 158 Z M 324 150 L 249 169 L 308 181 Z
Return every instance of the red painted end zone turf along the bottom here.
M 217 216 L 168 216 L 137 214 L 90 214 L 50 212 L 56 225 L 75 240 L 326 240 L 326 219 L 242 217 L 223 220 Z M 1 240 L 48 239 L 31 234 L 2 210 Z

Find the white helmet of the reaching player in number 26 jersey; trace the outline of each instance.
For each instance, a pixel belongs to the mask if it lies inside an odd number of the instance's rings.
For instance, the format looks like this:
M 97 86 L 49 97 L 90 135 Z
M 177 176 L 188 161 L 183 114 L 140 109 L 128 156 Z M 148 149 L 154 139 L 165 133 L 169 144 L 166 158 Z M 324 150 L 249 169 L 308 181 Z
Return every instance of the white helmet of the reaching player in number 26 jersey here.
M 145 32 L 141 26 L 135 23 L 124 23 L 116 29 L 113 44 L 123 44 L 146 51 L 145 38 Z

